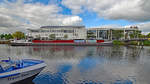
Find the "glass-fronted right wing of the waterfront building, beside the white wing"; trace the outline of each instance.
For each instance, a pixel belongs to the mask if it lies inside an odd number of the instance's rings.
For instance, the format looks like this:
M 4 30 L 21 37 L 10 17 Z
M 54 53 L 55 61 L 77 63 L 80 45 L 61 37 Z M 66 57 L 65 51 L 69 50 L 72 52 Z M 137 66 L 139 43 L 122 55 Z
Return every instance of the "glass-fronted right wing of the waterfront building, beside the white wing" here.
M 118 40 L 118 39 L 130 39 L 138 38 L 138 34 L 141 31 L 137 26 L 131 26 L 126 28 L 88 28 L 87 39 L 104 39 L 104 40 Z M 134 34 L 134 36 L 133 36 Z

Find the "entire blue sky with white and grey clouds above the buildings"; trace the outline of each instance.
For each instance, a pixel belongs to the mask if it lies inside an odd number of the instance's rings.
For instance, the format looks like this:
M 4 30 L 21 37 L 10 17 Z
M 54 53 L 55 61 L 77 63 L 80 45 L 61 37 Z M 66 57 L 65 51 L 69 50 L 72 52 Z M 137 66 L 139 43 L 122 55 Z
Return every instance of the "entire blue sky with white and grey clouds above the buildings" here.
M 45 25 L 129 26 L 150 32 L 150 0 L 0 0 L 0 33 Z

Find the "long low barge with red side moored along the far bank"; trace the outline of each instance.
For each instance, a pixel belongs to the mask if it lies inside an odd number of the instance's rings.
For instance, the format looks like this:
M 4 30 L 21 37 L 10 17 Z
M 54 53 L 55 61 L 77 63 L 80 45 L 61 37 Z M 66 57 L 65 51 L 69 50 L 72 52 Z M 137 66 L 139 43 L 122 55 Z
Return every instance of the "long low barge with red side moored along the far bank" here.
M 11 46 L 110 46 L 104 40 L 33 40 L 32 42 L 11 42 Z

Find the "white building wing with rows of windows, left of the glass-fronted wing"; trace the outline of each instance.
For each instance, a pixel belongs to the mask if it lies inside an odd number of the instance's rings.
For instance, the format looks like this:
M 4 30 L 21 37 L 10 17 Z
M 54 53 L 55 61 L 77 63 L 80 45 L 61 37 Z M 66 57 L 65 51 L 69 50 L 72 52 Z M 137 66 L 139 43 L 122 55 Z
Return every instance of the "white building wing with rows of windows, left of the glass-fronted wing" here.
M 42 26 L 40 29 L 28 29 L 28 36 L 33 38 L 51 39 L 86 39 L 85 26 Z

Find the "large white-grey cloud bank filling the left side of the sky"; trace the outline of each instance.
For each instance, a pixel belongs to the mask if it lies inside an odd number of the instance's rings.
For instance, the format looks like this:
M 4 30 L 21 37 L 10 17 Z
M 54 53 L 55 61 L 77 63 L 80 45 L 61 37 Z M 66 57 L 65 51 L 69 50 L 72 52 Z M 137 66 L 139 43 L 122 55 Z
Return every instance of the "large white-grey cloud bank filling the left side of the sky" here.
M 61 8 L 55 4 L 24 3 L 31 0 L 0 2 L 0 32 L 25 31 L 45 25 L 74 25 L 80 23 L 79 16 L 59 14 Z M 70 23 L 66 19 L 71 18 Z

